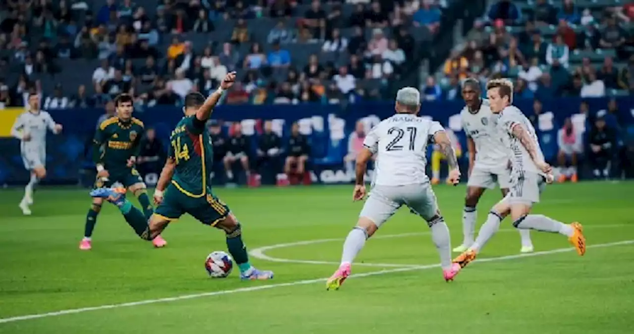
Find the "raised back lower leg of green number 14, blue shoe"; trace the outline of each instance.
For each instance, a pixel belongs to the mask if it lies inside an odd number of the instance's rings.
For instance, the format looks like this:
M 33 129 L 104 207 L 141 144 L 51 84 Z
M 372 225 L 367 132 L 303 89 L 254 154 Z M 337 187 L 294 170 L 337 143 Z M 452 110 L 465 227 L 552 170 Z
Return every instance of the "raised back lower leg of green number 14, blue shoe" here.
M 136 209 L 132 203 L 126 199 L 125 188 L 99 188 L 90 192 L 90 195 L 96 198 L 104 198 L 119 208 L 127 224 L 134 229 L 134 233 L 144 240 L 152 240 L 154 247 L 160 248 L 167 245 L 167 242 L 160 235 L 150 238 L 148 236 L 148 221 L 141 210 Z

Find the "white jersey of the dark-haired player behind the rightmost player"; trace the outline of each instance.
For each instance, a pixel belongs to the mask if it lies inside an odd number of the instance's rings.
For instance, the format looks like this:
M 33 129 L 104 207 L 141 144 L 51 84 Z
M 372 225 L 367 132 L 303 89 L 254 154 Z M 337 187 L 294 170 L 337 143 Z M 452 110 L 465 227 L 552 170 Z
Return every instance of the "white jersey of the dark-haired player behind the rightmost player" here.
M 505 169 L 510 158 L 510 151 L 504 145 L 502 132 L 496 127 L 498 115 L 491 112 L 489 100 L 482 100 L 477 113 L 469 112 L 465 106 L 460 112 L 462 129 L 475 144 L 474 168 Z

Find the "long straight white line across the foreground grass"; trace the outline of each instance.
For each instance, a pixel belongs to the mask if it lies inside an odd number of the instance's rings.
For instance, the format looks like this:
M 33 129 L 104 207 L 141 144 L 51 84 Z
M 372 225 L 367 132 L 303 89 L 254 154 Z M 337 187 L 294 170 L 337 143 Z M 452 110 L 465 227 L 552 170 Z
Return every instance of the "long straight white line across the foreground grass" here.
M 634 240 L 625 240 L 625 241 L 618 241 L 618 242 L 612 242 L 612 243 L 599 243 L 599 244 L 596 244 L 596 245 L 589 245 L 588 248 L 614 247 L 614 246 L 621 246 L 621 245 L 631 245 L 633 243 L 634 243 Z M 557 253 L 562 253 L 562 252 L 571 252 L 573 250 L 574 250 L 574 248 L 559 248 L 559 249 L 547 250 L 547 251 L 544 251 L 544 252 L 534 252 L 534 253 L 530 253 L 530 254 L 517 254 L 517 255 L 507 255 L 507 256 L 501 256 L 501 257 L 489 257 L 489 258 L 486 258 L 486 259 L 476 260 L 475 262 L 495 262 L 495 261 L 513 260 L 513 259 L 520 259 L 520 258 L 523 258 L 523 257 L 534 257 L 534 256 L 539 256 L 539 255 L 548 255 L 548 254 L 557 254 Z M 354 274 L 354 275 L 350 276 L 350 278 L 362 278 L 362 277 L 376 276 L 376 275 L 382 275 L 382 274 L 400 273 L 400 272 L 404 272 L 404 271 L 415 271 L 415 270 L 432 269 L 432 268 L 436 268 L 436 267 L 439 267 L 439 266 L 440 266 L 439 264 L 428 264 L 428 265 L 425 265 L 425 266 L 412 266 L 412 267 L 401 267 L 401 268 L 395 268 L 395 269 L 385 269 L 385 270 L 382 270 L 382 271 L 373 271 L 372 273 Z M 282 288 L 282 287 L 285 287 L 285 286 L 307 285 L 307 284 L 325 282 L 327 279 L 328 278 L 304 279 L 302 281 L 294 281 L 294 282 L 288 282 L 288 283 L 278 283 L 278 284 L 269 284 L 269 285 L 260 285 L 260 286 L 250 286 L 248 288 L 237 288 L 237 289 L 233 289 L 233 290 L 222 290 L 222 291 L 205 292 L 205 293 L 194 293 L 194 294 L 191 294 L 191 295 L 181 295 L 181 296 L 169 297 L 169 298 L 140 300 L 138 302 L 129 302 L 129 303 L 122 303 L 122 304 L 109 304 L 109 305 L 100 305 L 100 306 L 93 306 L 93 307 L 82 307 L 80 309 L 68 309 L 68 310 L 63 310 L 63 311 L 55 311 L 55 312 L 47 312 L 47 313 L 39 313 L 39 314 L 29 314 L 29 315 L 26 315 L 26 316 L 16 316 L 16 317 L 11 317 L 11 318 L 0 319 L 0 324 L 2 324 L 2 323 L 13 323 L 13 322 L 16 322 L 16 321 L 23 321 L 23 320 L 39 319 L 39 318 L 50 318 L 50 317 L 56 317 L 56 316 L 63 316 L 65 314 L 77 314 L 77 313 L 84 313 L 84 312 L 90 312 L 90 311 L 101 311 L 101 310 L 105 310 L 105 309 L 119 309 L 121 307 L 131 307 L 131 306 L 147 305 L 147 304 L 157 304 L 157 303 L 164 303 L 164 302 L 176 302 L 178 300 L 195 299 L 195 298 L 201 298 L 201 297 L 212 297 L 212 296 L 217 296 L 217 295 L 228 295 L 228 294 L 231 294 L 231 293 L 254 292 L 254 291 L 259 291 L 259 290 L 269 290 L 269 289 L 272 289 L 272 288 Z

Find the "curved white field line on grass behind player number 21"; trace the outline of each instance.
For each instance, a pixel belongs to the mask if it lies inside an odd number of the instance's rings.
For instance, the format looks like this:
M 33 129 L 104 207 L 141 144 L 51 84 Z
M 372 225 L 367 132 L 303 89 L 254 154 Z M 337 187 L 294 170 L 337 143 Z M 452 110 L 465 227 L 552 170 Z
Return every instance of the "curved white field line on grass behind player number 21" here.
M 591 226 L 584 226 L 584 229 L 597 229 L 597 228 L 620 228 L 623 226 L 629 226 L 632 225 L 634 226 L 634 224 L 605 224 L 605 225 L 591 225 Z M 517 229 L 500 229 L 500 231 L 498 231 L 498 233 L 500 232 L 515 232 L 517 231 Z M 431 234 L 429 231 L 427 232 L 413 232 L 413 233 L 400 233 L 400 234 L 385 234 L 385 235 L 377 235 L 377 236 L 373 236 L 372 239 L 387 239 L 387 238 L 402 238 L 404 236 L 420 236 L 420 235 L 429 235 Z M 270 245 L 270 246 L 264 246 L 264 247 L 260 247 L 260 248 L 255 248 L 254 250 L 251 250 L 249 252 L 249 255 L 251 257 L 255 257 L 256 259 L 260 259 L 260 260 L 267 260 L 267 261 L 271 261 L 271 262 L 285 262 L 285 263 L 297 263 L 297 264 L 328 264 L 328 265 L 339 265 L 339 262 L 335 262 L 335 261 L 317 261 L 317 260 L 295 260 L 295 259 L 281 259 L 279 257 L 271 257 L 269 255 L 264 254 L 264 252 L 267 252 L 269 250 L 273 250 L 273 249 L 278 249 L 278 248 L 286 248 L 286 247 L 295 247 L 295 246 L 304 246 L 304 245 L 314 245 L 315 243 L 326 243 L 326 242 L 332 242 L 332 241 L 342 241 L 342 239 L 320 239 L 320 240 L 306 240 L 306 241 L 295 241 L 295 242 L 290 242 L 290 243 L 278 243 L 276 245 Z M 397 268 L 404 268 L 404 267 L 418 267 L 420 265 L 418 264 L 394 264 L 394 263 L 361 263 L 361 262 L 355 262 L 354 266 L 366 266 L 366 267 L 383 267 L 383 268 L 389 268 L 389 267 L 397 267 Z

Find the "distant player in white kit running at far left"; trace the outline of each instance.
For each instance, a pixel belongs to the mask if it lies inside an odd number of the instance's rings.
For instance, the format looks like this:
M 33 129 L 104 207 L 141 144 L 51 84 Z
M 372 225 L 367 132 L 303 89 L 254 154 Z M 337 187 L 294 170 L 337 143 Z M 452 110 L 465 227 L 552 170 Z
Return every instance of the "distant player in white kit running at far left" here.
M 20 139 L 22 161 L 30 172 L 30 180 L 24 188 L 24 197 L 20 202 L 20 209 L 25 215 L 30 215 L 30 205 L 33 204 L 33 188 L 46 177 L 46 131 L 58 134 L 61 125 L 56 124 L 48 112 L 40 110 L 39 96 L 30 94 L 29 110 L 20 114 L 11 128 L 11 135 Z

